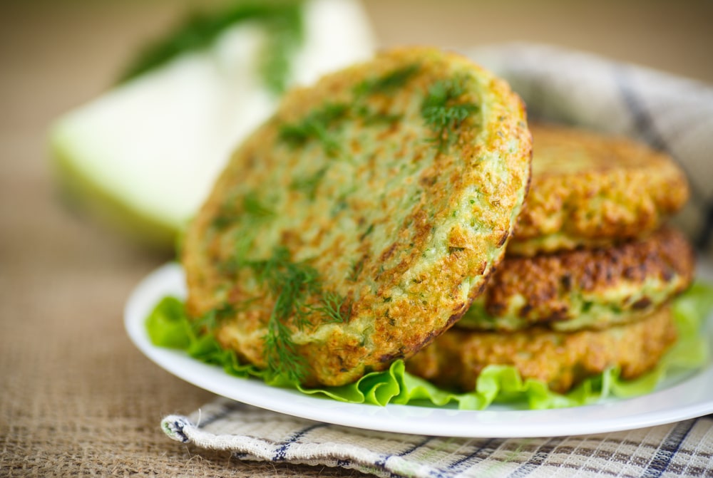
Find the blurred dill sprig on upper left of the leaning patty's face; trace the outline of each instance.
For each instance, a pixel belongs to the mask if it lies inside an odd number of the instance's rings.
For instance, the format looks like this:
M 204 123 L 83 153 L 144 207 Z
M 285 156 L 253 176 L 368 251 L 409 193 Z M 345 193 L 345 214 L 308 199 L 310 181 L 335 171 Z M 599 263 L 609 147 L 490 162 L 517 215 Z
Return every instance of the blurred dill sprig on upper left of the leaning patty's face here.
M 324 152 L 334 157 L 339 154 L 339 141 L 334 137 L 334 129 L 349 115 L 349 105 L 344 103 L 324 103 L 297 123 L 282 125 L 279 139 L 292 147 L 302 147 L 309 140 L 322 143 Z

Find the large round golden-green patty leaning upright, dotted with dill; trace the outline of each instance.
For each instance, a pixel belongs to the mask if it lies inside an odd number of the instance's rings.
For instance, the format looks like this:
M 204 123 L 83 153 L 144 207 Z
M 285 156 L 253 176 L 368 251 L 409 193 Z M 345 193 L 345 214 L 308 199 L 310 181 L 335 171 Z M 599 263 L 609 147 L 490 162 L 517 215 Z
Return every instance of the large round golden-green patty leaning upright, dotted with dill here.
M 523 103 L 461 56 L 391 51 L 294 90 L 190 225 L 188 310 L 306 385 L 384 370 L 481 291 L 530 156 Z

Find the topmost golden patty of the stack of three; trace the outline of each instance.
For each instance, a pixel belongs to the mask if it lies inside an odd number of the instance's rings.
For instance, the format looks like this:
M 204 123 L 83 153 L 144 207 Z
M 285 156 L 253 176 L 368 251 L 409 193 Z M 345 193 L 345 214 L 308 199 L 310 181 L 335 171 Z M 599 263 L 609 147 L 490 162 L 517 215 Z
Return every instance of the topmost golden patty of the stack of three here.
M 508 255 L 640 237 L 688 199 L 683 172 L 645 145 L 556 125 L 530 131 L 532 185 Z

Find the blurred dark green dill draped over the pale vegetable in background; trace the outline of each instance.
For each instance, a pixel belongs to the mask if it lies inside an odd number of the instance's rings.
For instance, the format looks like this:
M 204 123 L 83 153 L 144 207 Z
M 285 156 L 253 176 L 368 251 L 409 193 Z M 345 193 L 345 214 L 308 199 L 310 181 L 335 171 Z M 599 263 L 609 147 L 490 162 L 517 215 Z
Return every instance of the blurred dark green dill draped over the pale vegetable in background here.
M 240 1 L 223 11 L 193 12 L 165 36 L 145 46 L 118 83 L 159 68 L 183 53 L 207 48 L 227 28 L 243 21 L 258 21 L 265 26 L 269 40 L 261 56 L 260 73 L 268 88 L 282 93 L 293 53 L 304 37 L 301 2 L 297 0 Z

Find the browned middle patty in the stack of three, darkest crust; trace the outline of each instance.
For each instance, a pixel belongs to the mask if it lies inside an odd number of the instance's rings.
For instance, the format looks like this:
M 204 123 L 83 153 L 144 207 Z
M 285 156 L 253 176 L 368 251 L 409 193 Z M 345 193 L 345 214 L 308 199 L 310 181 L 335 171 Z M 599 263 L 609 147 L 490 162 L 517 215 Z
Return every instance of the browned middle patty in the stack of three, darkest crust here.
M 457 326 L 605 328 L 650 313 L 686 289 L 694 266 L 686 238 L 667 227 L 606 248 L 506 257 Z

